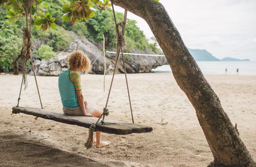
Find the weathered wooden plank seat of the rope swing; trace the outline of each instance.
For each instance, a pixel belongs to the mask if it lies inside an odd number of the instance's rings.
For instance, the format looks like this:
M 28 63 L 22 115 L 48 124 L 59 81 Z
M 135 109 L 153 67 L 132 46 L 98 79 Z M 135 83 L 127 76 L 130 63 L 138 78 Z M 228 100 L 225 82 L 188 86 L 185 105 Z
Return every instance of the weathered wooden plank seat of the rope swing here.
M 70 116 L 64 113 L 54 113 L 49 112 L 45 109 L 40 108 L 28 108 L 28 107 L 16 107 L 12 108 L 13 113 L 26 113 L 28 115 L 34 115 L 36 117 L 41 117 L 43 119 L 51 119 L 57 122 L 62 122 L 65 124 L 90 127 L 91 124 L 97 122 L 95 117 L 83 117 L 83 116 Z M 97 131 L 102 131 L 104 133 L 112 134 L 131 134 L 131 133 L 147 133 L 151 132 L 152 127 L 143 126 L 139 124 L 132 124 L 126 122 L 120 122 L 116 120 L 106 120 L 105 125 L 97 124 Z

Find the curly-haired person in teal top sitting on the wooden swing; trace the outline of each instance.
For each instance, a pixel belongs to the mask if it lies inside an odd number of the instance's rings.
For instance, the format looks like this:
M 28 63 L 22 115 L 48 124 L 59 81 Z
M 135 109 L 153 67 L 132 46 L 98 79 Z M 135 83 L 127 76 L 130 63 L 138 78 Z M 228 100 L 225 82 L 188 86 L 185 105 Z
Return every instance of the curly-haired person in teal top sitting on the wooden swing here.
M 100 117 L 102 112 L 84 101 L 79 72 L 88 73 L 91 62 L 81 51 L 73 52 L 68 57 L 68 70 L 63 71 L 58 80 L 58 86 L 63 105 L 63 112 L 67 115 L 79 115 L 85 117 Z M 96 132 L 96 147 L 105 147 L 108 142 L 103 142 L 102 133 Z

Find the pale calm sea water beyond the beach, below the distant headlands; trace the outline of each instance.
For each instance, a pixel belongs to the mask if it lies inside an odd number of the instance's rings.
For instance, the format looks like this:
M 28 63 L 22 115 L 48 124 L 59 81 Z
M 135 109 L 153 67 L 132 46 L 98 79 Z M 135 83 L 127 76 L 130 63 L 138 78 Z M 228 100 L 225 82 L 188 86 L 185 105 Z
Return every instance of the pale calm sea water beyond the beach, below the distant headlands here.
M 227 75 L 256 75 L 255 61 L 197 61 L 196 63 L 204 74 L 224 75 L 227 69 Z M 152 71 L 170 72 L 172 69 L 169 65 L 164 65 Z

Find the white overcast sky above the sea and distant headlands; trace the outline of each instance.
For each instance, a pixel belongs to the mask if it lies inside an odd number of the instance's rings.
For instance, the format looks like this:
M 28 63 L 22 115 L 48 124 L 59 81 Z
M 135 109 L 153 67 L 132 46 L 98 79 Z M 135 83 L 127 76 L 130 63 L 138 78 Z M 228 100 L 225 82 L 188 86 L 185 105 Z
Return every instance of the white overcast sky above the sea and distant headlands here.
M 159 0 L 188 48 L 206 49 L 214 57 L 256 61 L 256 0 Z M 117 8 L 116 10 L 120 10 Z M 129 12 L 128 18 L 147 38 L 147 23 Z

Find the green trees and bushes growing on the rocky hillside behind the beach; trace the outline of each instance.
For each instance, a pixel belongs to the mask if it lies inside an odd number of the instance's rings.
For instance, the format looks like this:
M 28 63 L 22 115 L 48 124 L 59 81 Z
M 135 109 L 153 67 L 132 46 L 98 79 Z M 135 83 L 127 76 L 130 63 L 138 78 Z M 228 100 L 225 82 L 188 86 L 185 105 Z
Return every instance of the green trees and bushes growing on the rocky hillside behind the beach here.
M 67 4 L 67 0 L 46 0 L 45 11 L 49 11 L 52 17 L 55 17 L 56 29 L 47 31 L 36 30 L 32 27 L 31 35 L 33 41 L 39 41 L 38 46 L 34 46 L 34 51 L 38 50 L 40 45 L 48 45 L 54 52 L 66 51 L 70 42 L 73 40 L 68 31 L 73 31 L 78 36 L 86 36 L 88 40 L 95 43 L 102 41 L 104 34 L 106 39 L 106 48 L 115 50 L 116 34 L 115 22 L 112 10 L 96 10 L 95 17 L 88 18 L 86 22 L 63 22 L 61 15 L 65 13 L 61 8 L 62 4 Z M 123 13 L 116 13 L 118 22 L 122 22 Z M 19 55 L 22 48 L 22 30 L 25 26 L 24 18 L 17 19 L 17 22 L 10 24 L 6 18 L 6 9 L 0 7 L 0 70 L 8 71 L 12 69 L 12 61 Z M 135 20 L 127 20 L 125 52 L 132 52 L 134 49 L 152 50 L 159 52 L 156 45 L 148 43 L 143 31 L 136 25 Z M 156 44 L 156 43 L 155 43 Z M 38 52 L 34 52 L 37 53 Z

